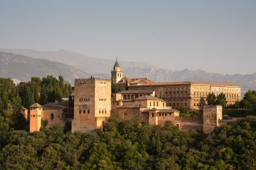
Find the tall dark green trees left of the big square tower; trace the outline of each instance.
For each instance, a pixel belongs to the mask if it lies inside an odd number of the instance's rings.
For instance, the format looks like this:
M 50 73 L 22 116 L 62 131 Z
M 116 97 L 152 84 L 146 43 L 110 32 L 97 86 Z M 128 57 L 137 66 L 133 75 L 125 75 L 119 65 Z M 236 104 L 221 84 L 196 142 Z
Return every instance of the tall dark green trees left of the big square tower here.
M 0 78 L 0 130 L 25 130 L 28 122 L 20 112 L 22 105 L 28 108 L 37 102 L 44 104 L 62 101 L 62 97 L 69 97 L 72 87 L 59 76 L 42 79 L 32 77 L 27 83 L 15 86 L 9 78 Z

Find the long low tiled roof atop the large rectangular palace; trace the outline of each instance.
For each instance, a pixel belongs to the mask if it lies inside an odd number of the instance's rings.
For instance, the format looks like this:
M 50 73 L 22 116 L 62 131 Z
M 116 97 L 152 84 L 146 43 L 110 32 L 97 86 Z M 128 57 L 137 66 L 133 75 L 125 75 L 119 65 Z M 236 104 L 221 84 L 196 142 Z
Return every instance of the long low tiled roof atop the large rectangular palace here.
M 216 85 L 216 86 L 239 87 L 238 85 L 233 85 L 228 83 L 211 83 L 211 82 L 195 82 L 195 81 L 143 83 L 143 84 L 140 84 L 139 86 L 158 86 L 158 85 Z

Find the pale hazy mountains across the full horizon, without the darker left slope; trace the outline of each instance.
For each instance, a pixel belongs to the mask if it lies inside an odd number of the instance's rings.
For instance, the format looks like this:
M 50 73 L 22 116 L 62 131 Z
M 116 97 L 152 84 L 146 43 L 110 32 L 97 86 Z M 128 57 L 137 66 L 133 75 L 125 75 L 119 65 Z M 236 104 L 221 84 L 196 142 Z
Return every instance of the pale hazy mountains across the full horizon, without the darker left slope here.
M 24 54 L 31 58 L 46 58 L 48 60 L 63 62 L 66 65 L 71 65 L 72 68 L 75 67 L 79 69 L 79 71 L 82 70 L 88 73 L 88 75 L 104 78 L 110 78 L 110 70 L 115 64 L 115 60 L 91 58 L 89 56 L 65 50 L 42 52 L 36 50 L 0 48 L 0 51 Z M 248 89 L 256 90 L 256 73 L 251 75 L 221 75 L 201 70 L 190 71 L 184 69 L 183 71 L 172 71 L 170 69 L 162 69 L 142 62 L 119 61 L 119 64 L 123 69 L 123 75 L 129 77 L 148 77 L 154 81 L 208 81 L 216 83 L 234 83 L 242 87 L 243 93 Z M 79 75 L 79 73 L 77 73 L 77 75 Z

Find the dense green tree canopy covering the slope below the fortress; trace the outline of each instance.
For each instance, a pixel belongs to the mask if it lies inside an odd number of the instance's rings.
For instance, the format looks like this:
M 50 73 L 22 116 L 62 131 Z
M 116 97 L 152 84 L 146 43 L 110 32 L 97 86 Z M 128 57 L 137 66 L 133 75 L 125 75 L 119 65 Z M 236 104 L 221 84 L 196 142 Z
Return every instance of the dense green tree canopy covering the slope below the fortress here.
M 255 169 L 255 130 L 256 118 L 206 136 L 117 117 L 91 134 L 2 130 L 0 169 Z

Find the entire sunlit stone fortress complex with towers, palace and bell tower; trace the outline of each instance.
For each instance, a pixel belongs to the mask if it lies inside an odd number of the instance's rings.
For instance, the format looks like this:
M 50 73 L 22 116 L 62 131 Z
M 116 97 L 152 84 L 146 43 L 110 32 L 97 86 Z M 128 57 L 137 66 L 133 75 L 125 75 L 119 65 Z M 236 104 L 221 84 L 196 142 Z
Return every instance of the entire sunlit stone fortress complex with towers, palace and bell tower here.
M 127 86 L 127 90 L 111 95 L 111 83 Z M 41 120 L 47 126 L 65 126 L 71 122 L 72 132 L 92 132 L 102 129 L 111 115 L 118 114 L 123 120 L 139 118 L 151 125 L 163 126 L 171 121 L 181 130 L 200 130 L 210 133 L 216 126 L 225 124 L 222 120 L 222 106 L 207 105 L 210 93 L 224 93 L 228 105 L 241 99 L 241 88 L 225 83 L 164 82 L 156 83 L 148 78 L 123 77 L 119 62 L 116 61 L 109 79 L 75 79 L 73 108 L 68 102 L 34 103 L 30 112 L 22 112 L 30 120 L 30 132 L 39 131 Z M 203 110 L 203 117 L 181 117 L 179 108 L 191 111 Z

